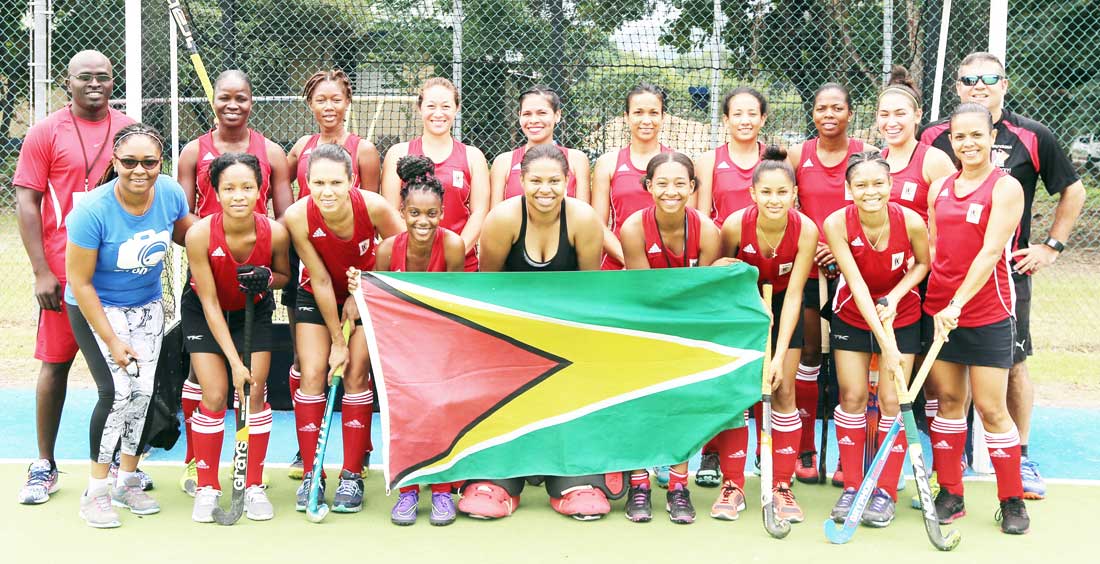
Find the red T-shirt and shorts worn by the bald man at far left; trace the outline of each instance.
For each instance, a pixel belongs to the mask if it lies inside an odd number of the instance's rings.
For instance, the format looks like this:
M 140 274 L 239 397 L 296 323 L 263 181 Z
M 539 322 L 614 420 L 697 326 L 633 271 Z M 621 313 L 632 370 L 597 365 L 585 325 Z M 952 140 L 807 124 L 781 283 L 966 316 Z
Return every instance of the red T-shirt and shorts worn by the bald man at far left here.
M 99 185 L 111 165 L 114 135 L 134 123 L 127 114 L 111 109 L 107 119 L 85 121 L 73 114 L 72 107 L 58 110 L 26 132 L 15 165 L 12 186 L 22 186 L 42 196 L 42 248 L 46 264 L 65 287 L 65 217 L 73 206 Z M 65 300 L 61 312 L 42 310 L 34 357 L 47 363 L 64 363 L 76 357 Z

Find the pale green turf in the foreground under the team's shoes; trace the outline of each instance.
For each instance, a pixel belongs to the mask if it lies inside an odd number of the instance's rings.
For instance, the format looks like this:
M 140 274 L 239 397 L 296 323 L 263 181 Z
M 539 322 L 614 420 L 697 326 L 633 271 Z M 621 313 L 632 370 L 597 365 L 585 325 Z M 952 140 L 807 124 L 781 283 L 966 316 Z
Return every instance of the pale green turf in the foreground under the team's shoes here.
M 140 518 L 122 512 L 122 528 L 101 531 L 77 517 L 86 467 L 64 466 L 62 490 L 37 507 L 8 505 L 0 527 L 6 562 L 209 562 L 195 554 L 219 554 L 218 562 L 332 562 L 348 551 L 362 562 L 592 562 L 703 564 L 712 562 L 861 563 L 861 562 L 1034 562 L 1056 557 L 1059 562 L 1088 562 L 1097 541 L 1091 508 L 1100 506 L 1100 488 L 1050 486 L 1048 499 L 1028 504 L 1033 524 L 1024 537 L 1001 534 L 993 521 L 997 502 L 993 485 L 967 483 L 969 516 L 955 523 L 963 543 L 949 554 L 928 544 L 920 513 L 899 509 L 887 529 L 860 528 L 846 545 L 832 545 L 822 531 L 822 519 L 839 494 L 832 486 L 796 486 L 803 509 L 811 516 L 795 524 L 791 535 L 779 541 L 760 524 L 757 482 L 750 478 L 750 509 L 739 521 L 708 517 L 716 490 L 693 487 L 698 519 L 692 526 L 669 522 L 663 511 L 664 490 L 654 491 L 654 516 L 650 523 L 631 523 L 623 517 L 623 500 L 612 515 L 595 522 L 578 522 L 559 516 L 547 504 L 546 490 L 528 487 L 519 510 L 499 521 L 460 517 L 450 527 L 428 524 L 429 496 L 421 497 L 420 520 L 413 527 L 389 523 L 396 496 L 385 497 L 382 475 L 367 480 L 367 501 L 358 515 L 330 513 L 321 524 L 306 521 L 294 511 L 297 482 L 272 468 L 268 490 L 276 517 L 267 522 L 244 518 L 234 527 L 191 522 L 191 498 L 176 488 L 182 468 L 150 466 L 156 479 L 154 495 L 160 515 Z M 0 484 L 14 496 L 23 477 L 21 465 L 0 465 Z M 336 474 L 336 468 L 330 469 Z M 330 486 L 331 488 L 331 486 Z M 908 502 L 912 485 L 902 493 Z M 228 494 L 227 494 L 228 495 Z M 329 494 L 331 500 L 331 489 Z M 228 499 L 223 499 L 228 505 Z M 1092 554 L 1093 556 L 1089 556 Z M 228 560 L 227 560 L 228 559 Z

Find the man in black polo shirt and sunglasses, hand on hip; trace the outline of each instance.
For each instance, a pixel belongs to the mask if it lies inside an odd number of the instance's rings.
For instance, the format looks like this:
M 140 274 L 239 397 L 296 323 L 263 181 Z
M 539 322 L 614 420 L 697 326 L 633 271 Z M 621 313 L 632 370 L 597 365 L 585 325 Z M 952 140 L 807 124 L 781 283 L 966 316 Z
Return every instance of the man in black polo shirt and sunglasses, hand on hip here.
M 989 109 L 997 130 L 990 157 L 994 165 L 1019 180 L 1024 189 L 1024 214 L 1012 244 L 1016 339 L 1012 351 L 1014 364 L 1009 371 L 1008 403 L 1009 413 L 1020 430 L 1020 468 L 1024 498 L 1043 499 L 1046 485 L 1038 474 L 1038 465 L 1027 458 L 1027 436 L 1035 399 L 1026 364 L 1027 356 L 1032 354 L 1031 275 L 1054 264 L 1062 254 L 1074 222 L 1085 204 L 1085 186 L 1058 140 L 1046 125 L 1004 109 L 1009 78 L 997 55 L 982 52 L 967 55 L 959 64 L 955 88 L 961 102 L 976 102 Z M 930 124 L 921 133 L 921 141 L 954 155 L 948 128 L 948 120 Z M 1058 195 L 1058 204 L 1054 211 L 1050 232 L 1042 243 L 1030 245 L 1032 201 L 1035 199 L 1035 187 L 1040 178 L 1043 179 L 1047 193 Z

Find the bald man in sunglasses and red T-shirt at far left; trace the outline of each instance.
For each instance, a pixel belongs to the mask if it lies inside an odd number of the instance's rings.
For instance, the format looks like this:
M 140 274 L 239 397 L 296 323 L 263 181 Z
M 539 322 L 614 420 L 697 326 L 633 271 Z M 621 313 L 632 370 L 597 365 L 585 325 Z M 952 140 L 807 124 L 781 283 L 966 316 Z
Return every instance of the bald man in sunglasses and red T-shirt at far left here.
M 114 135 L 134 121 L 111 109 L 111 62 L 98 51 L 81 51 L 68 65 L 65 87 L 72 103 L 26 132 L 15 165 L 19 233 L 34 270 L 38 333 L 36 428 L 38 460 L 31 463 L 21 504 L 44 504 L 57 490 L 54 444 L 61 424 L 69 368 L 76 357 L 65 300 L 65 218 L 111 163 Z

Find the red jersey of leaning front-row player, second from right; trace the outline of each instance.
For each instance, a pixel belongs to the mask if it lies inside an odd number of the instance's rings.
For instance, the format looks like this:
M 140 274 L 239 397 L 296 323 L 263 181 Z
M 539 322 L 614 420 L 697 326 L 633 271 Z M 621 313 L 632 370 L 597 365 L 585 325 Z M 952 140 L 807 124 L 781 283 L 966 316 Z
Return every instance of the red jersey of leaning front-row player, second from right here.
M 877 251 L 871 246 L 873 243 L 864 233 L 864 226 L 859 222 L 859 210 L 855 204 L 848 206 L 844 211 L 844 220 L 848 229 L 848 247 L 851 248 L 851 256 L 856 259 L 859 274 L 867 284 L 867 289 L 871 294 L 871 300 L 890 294 L 890 290 L 898 286 L 898 283 L 909 272 L 909 258 L 913 256 L 913 244 L 909 240 L 909 230 L 905 229 L 905 212 L 901 206 L 887 203 L 887 217 L 890 221 L 890 240 L 887 247 Z M 838 278 L 836 296 L 833 297 L 833 312 L 840 317 L 845 323 L 859 329 L 870 330 L 864 316 L 856 307 L 856 300 L 851 294 L 844 276 Z M 906 327 L 916 323 L 921 319 L 921 295 L 913 288 L 898 303 L 898 319 L 894 324 Z

